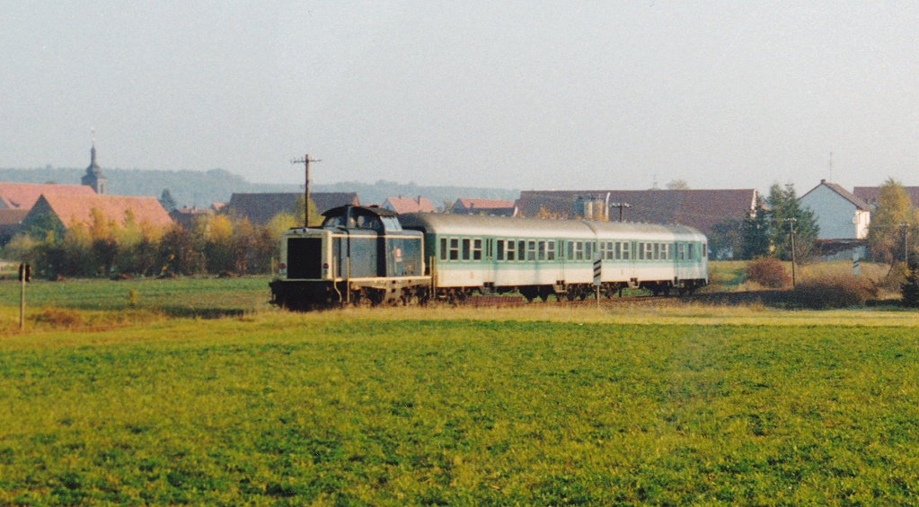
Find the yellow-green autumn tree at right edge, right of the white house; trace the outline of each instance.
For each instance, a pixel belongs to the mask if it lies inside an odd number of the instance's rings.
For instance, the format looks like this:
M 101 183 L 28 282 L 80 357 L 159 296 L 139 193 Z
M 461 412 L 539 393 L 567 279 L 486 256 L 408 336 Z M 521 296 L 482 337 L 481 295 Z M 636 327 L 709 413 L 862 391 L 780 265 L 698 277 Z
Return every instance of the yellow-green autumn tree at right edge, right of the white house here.
M 906 248 L 903 234 L 917 238 L 917 218 L 919 211 L 913 207 L 913 201 L 901 183 L 893 178 L 879 188 L 877 207 L 871 213 L 871 225 L 868 227 L 868 252 L 871 258 L 883 262 L 903 262 Z M 907 243 L 908 244 L 908 243 Z

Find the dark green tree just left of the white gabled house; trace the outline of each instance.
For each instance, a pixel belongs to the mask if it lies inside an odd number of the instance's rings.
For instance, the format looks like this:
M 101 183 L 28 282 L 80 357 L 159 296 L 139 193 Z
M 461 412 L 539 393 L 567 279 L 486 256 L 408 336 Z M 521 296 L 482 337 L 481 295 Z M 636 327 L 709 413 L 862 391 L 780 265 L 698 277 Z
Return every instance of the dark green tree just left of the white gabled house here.
M 773 254 L 783 260 L 791 260 L 790 228 L 795 231 L 795 256 L 804 262 L 811 257 L 813 244 L 817 241 L 817 219 L 811 208 L 803 208 L 795 192 L 794 184 L 784 188 L 778 184 L 769 187 L 769 234 Z

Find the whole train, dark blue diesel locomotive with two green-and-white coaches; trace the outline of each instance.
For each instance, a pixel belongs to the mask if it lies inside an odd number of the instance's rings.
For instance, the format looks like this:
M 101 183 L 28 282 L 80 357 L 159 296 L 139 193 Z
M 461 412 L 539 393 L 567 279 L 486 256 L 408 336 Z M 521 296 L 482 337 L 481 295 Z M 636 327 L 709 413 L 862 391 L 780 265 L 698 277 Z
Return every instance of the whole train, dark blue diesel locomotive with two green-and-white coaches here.
M 271 302 L 335 305 L 611 298 L 624 288 L 692 293 L 709 283 L 708 242 L 682 225 L 396 213 L 343 206 L 282 234 Z

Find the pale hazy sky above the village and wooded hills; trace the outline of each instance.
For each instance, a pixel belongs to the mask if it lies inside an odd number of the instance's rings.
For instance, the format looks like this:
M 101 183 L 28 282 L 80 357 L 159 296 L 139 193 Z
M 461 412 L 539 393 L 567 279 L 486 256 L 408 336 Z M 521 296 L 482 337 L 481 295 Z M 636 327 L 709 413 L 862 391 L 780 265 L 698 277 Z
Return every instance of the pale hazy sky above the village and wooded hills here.
M 919 185 L 919 3 L 0 0 L 0 167 Z

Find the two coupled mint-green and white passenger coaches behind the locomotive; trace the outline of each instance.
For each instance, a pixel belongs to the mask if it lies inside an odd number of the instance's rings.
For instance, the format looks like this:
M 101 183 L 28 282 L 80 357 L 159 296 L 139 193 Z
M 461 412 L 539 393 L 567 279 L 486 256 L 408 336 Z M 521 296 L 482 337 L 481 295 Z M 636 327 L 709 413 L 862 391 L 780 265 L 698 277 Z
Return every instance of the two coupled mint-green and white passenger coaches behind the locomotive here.
M 431 213 L 399 220 L 424 233 L 432 284 L 451 300 L 475 290 L 584 299 L 594 291 L 596 259 L 607 297 L 625 287 L 683 294 L 709 283 L 706 238 L 690 227 Z

